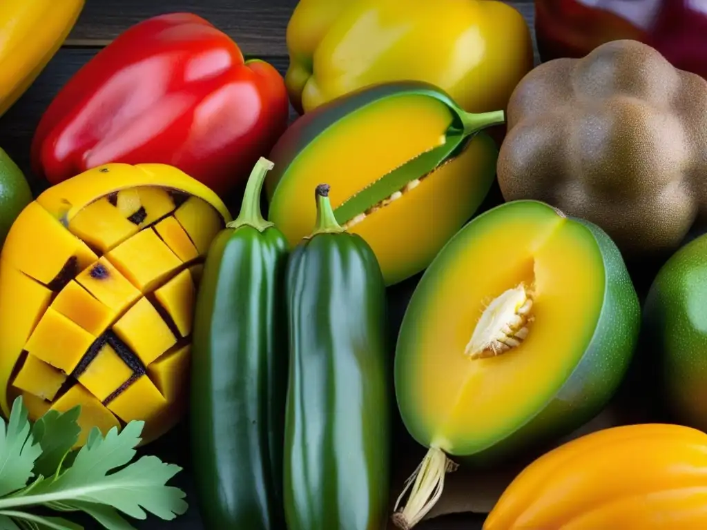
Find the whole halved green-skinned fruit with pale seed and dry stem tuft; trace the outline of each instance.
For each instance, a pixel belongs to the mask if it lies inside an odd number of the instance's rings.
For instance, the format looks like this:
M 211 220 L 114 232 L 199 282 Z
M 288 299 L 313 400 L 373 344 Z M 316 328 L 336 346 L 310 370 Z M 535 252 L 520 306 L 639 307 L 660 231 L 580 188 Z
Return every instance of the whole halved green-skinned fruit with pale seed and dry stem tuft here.
M 452 461 L 496 464 L 599 413 L 639 327 L 624 261 L 596 225 L 513 201 L 457 232 L 423 274 L 399 331 L 399 411 L 429 448 L 395 514 L 399 526 L 432 507 Z

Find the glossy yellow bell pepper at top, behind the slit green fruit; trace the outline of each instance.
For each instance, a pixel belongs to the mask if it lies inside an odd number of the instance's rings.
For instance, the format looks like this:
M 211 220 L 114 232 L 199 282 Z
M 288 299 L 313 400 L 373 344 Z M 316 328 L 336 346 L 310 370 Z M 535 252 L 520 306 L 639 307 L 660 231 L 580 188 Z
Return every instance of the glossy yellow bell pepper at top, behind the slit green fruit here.
M 300 0 L 287 28 L 292 105 L 308 112 L 358 88 L 426 81 L 468 112 L 506 108 L 532 69 L 530 29 L 496 0 Z

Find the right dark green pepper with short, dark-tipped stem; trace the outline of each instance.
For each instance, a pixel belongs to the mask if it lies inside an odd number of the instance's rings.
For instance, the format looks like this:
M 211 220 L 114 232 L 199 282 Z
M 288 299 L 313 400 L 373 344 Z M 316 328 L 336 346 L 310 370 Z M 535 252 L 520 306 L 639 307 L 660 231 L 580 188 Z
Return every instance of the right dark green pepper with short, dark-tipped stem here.
M 288 530 L 382 530 L 390 493 L 390 351 L 375 254 L 334 219 L 289 258 L 290 371 L 284 488 Z

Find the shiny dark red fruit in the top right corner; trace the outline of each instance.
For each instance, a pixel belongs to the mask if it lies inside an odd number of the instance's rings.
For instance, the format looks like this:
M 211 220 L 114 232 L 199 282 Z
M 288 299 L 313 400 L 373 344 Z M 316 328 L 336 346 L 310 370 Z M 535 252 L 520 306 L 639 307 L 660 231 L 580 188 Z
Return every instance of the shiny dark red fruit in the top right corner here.
M 628 38 L 707 78 L 707 0 L 535 0 L 535 11 L 544 61 Z

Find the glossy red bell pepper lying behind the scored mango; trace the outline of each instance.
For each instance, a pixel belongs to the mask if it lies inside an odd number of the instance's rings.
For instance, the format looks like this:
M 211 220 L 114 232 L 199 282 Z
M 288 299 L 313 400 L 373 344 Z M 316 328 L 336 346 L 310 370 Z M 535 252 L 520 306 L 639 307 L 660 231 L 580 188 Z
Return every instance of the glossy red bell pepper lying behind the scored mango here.
M 43 115 L 33 171 L 56 184 L 110 162 L 166 163 L 221 196 L 287 126 L 284 79 L 191 13 L 156 16 L 90 59 Z

